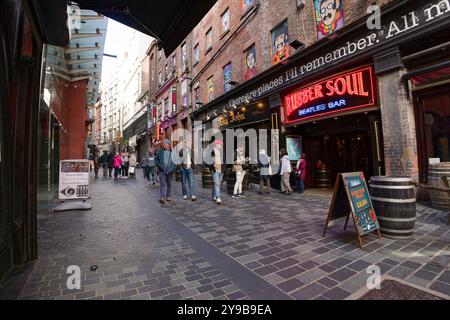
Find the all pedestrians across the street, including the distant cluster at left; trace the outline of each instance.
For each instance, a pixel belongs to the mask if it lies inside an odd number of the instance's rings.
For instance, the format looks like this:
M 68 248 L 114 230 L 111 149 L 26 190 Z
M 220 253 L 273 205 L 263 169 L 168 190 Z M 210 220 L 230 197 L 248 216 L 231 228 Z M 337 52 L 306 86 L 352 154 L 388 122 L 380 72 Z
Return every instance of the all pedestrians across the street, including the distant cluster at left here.
M 183 146 L 178 156 L 181 157 L 181 185 L 184 200 L 196 201 L 195 194 L 195 180 L 192 161 L 192 149 L 191 144 L 188 141 L 182 142 Z M 172 142 L 170 140 L 164 140 L 162 143 L 158 143 L 158 148 L 153 148 L 142 158 L 140 166 L 144 172 L 144 178 L 148 180 L 149 185 L 155 186 L 160 184 L 160 203 L 165 204 L 171 202 L 172 196 L 172 184 L 176 171 L 176 165 L 174 162 L 174 154 L 172 150 Z M 157 151 L 153 151 L 157 149 Z M 246 176 L 245 164 L 249 161 L 245 157 L 244 148 L 240 147 L 236 150 L 237 157 L 233 164 L 233 173 L 236 175 L 236 182 L 233 188 L 233 198 L 239 199 L 243 197 L 243 182 Z M 211 150 L 212 161 L 208 164 L 211 171 L 211 176 L 214 182 L 211 197 L 217 204 L 222 203 L 221 198 L 221 184 L 224 177 L 225 165 L 223 163 L 223 141 L 215 140 L 213 148 Z M 306 155 L 302 154 L 295 166 L 291 165 L 286 149 L 281 150 L 281 165 L 279 167 L 278 174 L 281 180 L 281 192 L 286 195 L 291 195 L 294 191 L 291 187 L 291 175 L 294 174 L 296 182 L 296 190 L 298 193 L 303 194 L 305 191 L 305 178 L 306 178 Z M 96 178 L 98 178 L 98 167 L 103 168 L 103 177 L 112 178 L 114 170 L 114 180 L 128 179 L 129 177 L 135 177 L 137 160 L 134 153 L 114 153 L 107 151 L 103 152 L 103 155 L 98 158 L 94 158 L 96 164 Z M 270 194 L 271 185 L 270 180 L 272 173 L 271 159 L 267 155 L 266 150 L 259 151 L 258 157 L 259 167 L 259 194 Z

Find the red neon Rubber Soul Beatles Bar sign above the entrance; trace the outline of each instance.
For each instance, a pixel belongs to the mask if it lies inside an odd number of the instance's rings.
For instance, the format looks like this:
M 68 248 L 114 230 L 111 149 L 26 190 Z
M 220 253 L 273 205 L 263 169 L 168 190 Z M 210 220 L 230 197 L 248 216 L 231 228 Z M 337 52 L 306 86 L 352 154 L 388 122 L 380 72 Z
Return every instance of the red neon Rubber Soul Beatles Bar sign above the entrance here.
M 286 124 L 373 107 L 374 92 L 372 67 L 320 80 L 284 97 Z

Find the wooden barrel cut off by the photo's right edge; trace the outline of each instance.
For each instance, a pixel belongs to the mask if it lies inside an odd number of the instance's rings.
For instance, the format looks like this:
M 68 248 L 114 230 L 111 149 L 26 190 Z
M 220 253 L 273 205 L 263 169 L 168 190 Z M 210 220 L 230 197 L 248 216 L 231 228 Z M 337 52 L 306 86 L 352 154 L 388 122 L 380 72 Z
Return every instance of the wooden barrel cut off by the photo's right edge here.
M 436 163 L 430 165 L 428 172 L 428 185 L 444 188 L 442 177 L 450 177 L 450 162 Z M 450 210 L 450 195 L 445 191 L 430 190 L 431 205 L 439 210 Z

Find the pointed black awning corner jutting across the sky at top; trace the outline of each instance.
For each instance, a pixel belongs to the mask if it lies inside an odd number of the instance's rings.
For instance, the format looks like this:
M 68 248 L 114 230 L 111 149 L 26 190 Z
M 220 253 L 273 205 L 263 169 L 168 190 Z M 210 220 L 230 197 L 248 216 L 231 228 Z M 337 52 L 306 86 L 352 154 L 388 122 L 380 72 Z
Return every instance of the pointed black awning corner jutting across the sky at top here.
M 94 10 L 156 38 L 168 56 L 208 13 L 217 0 L 75 0 L 81 9 Z

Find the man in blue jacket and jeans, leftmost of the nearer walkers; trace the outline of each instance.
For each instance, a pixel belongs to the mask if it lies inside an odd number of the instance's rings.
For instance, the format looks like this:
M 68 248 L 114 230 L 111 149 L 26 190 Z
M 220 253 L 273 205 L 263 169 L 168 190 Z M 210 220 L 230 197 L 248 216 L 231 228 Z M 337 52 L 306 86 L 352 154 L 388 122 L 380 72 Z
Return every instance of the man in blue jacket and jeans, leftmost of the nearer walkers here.
M 161 145 L 161 150 L 156 155 L 156 166 L 159 168 L 159 181 L 160 181 L 160 200 L 161 204 L 170 202 L 170 196 L 172 194 L 172 181 L 173 174 L 175 172 L 175 164 L 173 163 L 173 155 L 171 149 L 170 140 L 164 140 Z

